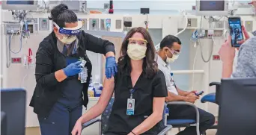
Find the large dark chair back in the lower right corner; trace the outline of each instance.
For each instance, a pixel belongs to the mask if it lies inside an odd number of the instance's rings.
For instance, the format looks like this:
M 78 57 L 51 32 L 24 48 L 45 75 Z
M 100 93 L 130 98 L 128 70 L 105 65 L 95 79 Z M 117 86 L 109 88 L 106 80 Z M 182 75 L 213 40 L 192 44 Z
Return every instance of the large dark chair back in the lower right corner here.
M 255 135 L 256 78 L 222 79 L 218 135 Z

